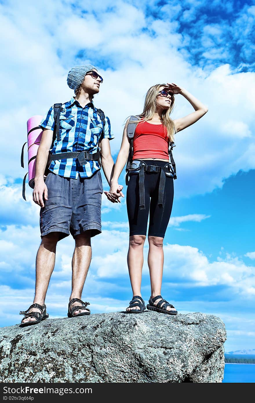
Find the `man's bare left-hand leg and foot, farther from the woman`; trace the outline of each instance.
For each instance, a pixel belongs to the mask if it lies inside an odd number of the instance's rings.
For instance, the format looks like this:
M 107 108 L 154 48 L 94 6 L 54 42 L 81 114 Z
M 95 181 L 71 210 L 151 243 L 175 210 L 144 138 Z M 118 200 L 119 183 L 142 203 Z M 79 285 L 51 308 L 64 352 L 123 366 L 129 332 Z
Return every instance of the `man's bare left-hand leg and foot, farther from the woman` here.
M 41 245 L 36 255 L 36 277 L 35 277 L 35 297 L 33 303 L 44 305 L 46 292 L 48 290 L 50 277 L 54 270 L 56 258 L 56 245 L 59 239 L 58 232 L 52 232 L 41 238 Z M 41 312 L 37 308 L 31 308 L 29 312 Z M 27 316 L 22 320 L 23 323 L 36 320 Z

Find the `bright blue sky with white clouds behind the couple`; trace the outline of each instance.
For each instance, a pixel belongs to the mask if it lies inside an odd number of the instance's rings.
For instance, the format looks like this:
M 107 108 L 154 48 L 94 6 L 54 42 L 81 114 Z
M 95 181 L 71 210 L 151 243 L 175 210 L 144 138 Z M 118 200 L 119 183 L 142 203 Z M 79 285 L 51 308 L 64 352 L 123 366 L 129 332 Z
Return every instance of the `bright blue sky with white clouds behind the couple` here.
M 253 2 L 4 1 L 0 9 L 6 133 L 0 173 L 0 325 L 18 323 L 18 312 L 27 309 L 34 294 L 39 207 L 28 186 L 27 202 L 21 195 L 27 119 L 69 100 L 68 70 L 89 62 L 104 77 L 95 105 L 111 120 L 114 160 L 124 120 L 142 110 L 151 85 L 177 83 L 208 106 L 199 122 L 176 135 L 178 179 L 164 239 L 162 294 L 182 314 L 220 316 L 227 328 L 226 351 L 253 349 Z M 172 117 L 192 111 L 177 95 Z M 124 185 L 124 172 L 119 182 Z M 92 312 L 124 310 L 131 299 L 125 199 L 115 206 L 103 195 L 102 222 L 102 234 L 92 240 L 83 297 Z M 66 316 L 73 247 L 72 237 L 57 247 L 46 297 L 51 317 Z M 150 296 L 147 250 L 146 243 L 145 300 Z

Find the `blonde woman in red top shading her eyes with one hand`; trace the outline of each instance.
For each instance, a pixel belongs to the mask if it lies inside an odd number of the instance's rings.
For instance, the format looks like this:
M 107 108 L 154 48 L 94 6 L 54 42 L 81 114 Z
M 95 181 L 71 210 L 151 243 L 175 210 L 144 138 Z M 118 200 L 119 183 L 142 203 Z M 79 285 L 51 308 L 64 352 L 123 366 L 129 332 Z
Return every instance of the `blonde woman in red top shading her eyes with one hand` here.
M 195 112 L 172 120 L 174 94 L 184 96 Z M 151 280 L 151 297 L 148 310 L 176 315 L 174 306 L 161 296 L 164 263 L 163 239 L 172 211 L 174 197 L 173 179 L 175 165 L 169 162 L 168 147 L 174 134 L 197 122 L 207 108 L 186 89 L 172 83 L 153 85 L 147 92 L 143 112 L 137 115 L 133 137 L 133 163 L 129 171 L 126 205 L 129 218 L 129 251 L 127 263 L 133 290 L 133 299 L 126 311 L 140 313 L 145 310 L 141 297 L 141 275 L 143 267 L 143 245 L 149 216 L 148 266 Z M 112 202 L 123 196 L 118 190 L 118 178 L 129 156 L 130 141 L 127 132 L 129 121 L 124 127 L 122 144 L 116 160 L 109 192 L 104 192 Z M 130 126 L 129 126 L 130 127 Z M 144 187 L 143 187 L 144 186 Z

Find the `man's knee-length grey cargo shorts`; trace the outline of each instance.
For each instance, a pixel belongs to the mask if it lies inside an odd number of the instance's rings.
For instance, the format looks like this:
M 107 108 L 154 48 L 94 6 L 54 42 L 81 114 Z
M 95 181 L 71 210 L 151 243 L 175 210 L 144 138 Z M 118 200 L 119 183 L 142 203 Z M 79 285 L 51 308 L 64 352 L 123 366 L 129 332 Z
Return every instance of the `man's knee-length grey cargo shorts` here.
M 101 231 L 102 177 L 96 171 L 89 178 L 64 178 L 49 172 L 45 180 L 48 200 L 40 210 L 41 237 L 59 232 L 59 240 L 73 238 L 91 230 L 91 237 Z

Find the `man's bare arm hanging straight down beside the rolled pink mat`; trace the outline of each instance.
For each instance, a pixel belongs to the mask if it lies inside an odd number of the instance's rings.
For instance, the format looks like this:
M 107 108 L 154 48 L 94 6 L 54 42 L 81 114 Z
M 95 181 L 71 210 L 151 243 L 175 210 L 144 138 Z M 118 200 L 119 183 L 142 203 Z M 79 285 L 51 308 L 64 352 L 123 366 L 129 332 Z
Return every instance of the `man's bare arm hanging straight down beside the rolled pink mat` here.
M 48 161 L 50 147 L 52 145 L 52 136 L 52 130 L 44 129 L 36 156 L 33 201 L 40 207 L 44 207 L 44 199 L 48 200 L 48 189 L 44 183 L 44 172 Z

